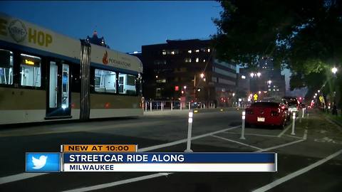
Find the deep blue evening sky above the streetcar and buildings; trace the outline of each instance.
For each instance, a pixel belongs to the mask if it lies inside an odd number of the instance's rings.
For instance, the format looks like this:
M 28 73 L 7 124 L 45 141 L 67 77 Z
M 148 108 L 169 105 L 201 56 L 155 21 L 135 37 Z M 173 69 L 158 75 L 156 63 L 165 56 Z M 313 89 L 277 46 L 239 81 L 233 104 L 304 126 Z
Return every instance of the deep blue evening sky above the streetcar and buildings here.
M 166 39 L 209 38 L 216 1 L 0 1 L 0 11 L 73 38 L 93 31 L 122 52 Z

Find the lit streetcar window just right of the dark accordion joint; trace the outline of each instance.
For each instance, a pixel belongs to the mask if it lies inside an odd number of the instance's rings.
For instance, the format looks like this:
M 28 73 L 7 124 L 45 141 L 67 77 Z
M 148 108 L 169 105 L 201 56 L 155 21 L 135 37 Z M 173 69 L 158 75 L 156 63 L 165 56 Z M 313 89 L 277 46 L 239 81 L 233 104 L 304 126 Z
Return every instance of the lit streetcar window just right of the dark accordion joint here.
M 116 92 L 116 73 L 95 69 L 95 92 Z

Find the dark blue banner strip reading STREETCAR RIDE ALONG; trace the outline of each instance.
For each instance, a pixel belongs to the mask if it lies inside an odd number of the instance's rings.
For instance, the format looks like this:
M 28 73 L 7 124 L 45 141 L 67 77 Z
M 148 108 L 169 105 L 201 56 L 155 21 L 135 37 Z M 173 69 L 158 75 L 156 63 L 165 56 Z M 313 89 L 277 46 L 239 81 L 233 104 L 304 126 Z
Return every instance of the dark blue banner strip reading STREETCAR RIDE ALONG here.
M 274 164 L 275 153 L 64 153 L 64 163 L 111 164 Z

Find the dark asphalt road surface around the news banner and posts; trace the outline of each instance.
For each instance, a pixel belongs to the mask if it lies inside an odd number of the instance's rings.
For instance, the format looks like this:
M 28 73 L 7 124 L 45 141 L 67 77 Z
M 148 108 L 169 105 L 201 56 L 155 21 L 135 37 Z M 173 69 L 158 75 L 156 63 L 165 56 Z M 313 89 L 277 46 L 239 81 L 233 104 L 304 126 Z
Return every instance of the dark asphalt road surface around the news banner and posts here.
M 311 113 L 291 129 L 246 129 L 240 112 L 195 114 L 193 151 L 276 151 L 276 173 L 54 173 L 25 178 L 27 151 L 59 151 L 61 144 L 138 144 L 148 151 L 184 151 L 187 113 L 133 119 L 34 125 L 0 131 L 0 191 L 341 191 L 342 132 Z M 222 129 L 232 129 L 217 132 Z M 266 129 L 263 129 L 266 128 Z M 209 134 L 216 132 L 214 134 Z M 333 154 L 333 156 L 331 156 Z M 328 159 L 326 159 L 328 157 Z M 9 176 L 18 181 L 8 182 Z M 20 179 L 25 178 L 25 179 Z M 99 186 L 101 185 L 101 186 Z

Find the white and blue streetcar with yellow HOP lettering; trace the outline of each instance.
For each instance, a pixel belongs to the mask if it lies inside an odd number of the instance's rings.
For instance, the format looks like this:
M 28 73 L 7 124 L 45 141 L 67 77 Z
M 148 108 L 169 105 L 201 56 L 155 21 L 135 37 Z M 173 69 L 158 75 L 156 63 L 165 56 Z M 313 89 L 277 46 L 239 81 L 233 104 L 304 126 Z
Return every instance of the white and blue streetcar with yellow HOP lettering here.
M 142 63 L 0 13 L 0 124 L 142 115 Z

